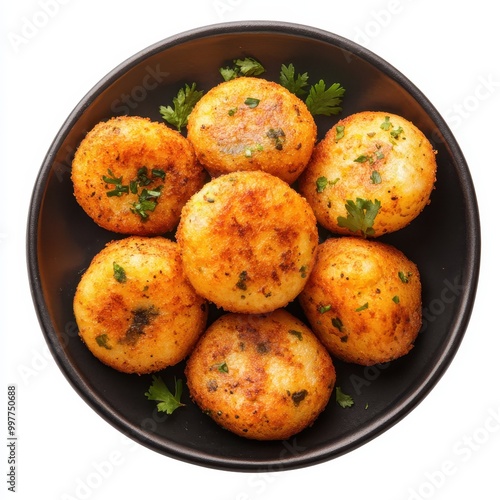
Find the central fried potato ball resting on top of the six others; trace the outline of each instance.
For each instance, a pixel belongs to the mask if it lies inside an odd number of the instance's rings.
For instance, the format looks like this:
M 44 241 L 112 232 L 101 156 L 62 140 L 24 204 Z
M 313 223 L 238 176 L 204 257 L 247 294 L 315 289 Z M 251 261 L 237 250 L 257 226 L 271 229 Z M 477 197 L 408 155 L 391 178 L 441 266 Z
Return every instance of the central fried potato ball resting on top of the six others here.
M 318 245 L 307 201 L 262 171 L 212 179 L 182 210 L 177 241 L 195 290 L 230 312 L 264 313 L 303 289 Z

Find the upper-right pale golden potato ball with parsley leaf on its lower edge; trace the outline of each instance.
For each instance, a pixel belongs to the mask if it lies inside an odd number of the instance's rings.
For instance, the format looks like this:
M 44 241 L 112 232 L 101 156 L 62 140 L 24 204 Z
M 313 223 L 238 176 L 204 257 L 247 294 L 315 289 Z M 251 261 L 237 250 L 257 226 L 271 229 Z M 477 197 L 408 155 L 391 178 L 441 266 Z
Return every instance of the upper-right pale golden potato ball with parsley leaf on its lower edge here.
M 435 156 L 408 120 L 384 112 L 357 113 L 340 120 L 318 143 L 299 191 L 323 227 L 350 236 L 357 231 L 345 224 L 347 201 L 380 202 L 369 223 L 373 234 L 366 234 L 381 236 L 407 226 L 429 203 Z

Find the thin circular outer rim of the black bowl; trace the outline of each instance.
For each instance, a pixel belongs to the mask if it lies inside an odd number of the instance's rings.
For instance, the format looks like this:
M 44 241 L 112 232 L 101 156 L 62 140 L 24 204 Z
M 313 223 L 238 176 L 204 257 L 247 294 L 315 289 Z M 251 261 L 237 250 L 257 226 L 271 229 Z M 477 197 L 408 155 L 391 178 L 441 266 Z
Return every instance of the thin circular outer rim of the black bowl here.
M 104 89 L 107 88 L 108 85 L 117 80 L 121 75 L 125 74 L 143 60 L 159 52 L 168 50 L 169 48 L 179 44 L 190 42 L 200 37 L 214 37 L 225 34 L 237 35 L 243 33 L 276 33 L 325 42 L 360 57 L 396 81 L 402 88 L 404 88 L 404 90 L 406 90 L 406 92 L 419 102 L 420 106 L 437 124 L 440 133 L 448 144 L 451 155 L 456 161 L 456 172 L 460 186 L 463 189 L 466 212 L 466 258 L 465 267 L 463 269 L 464 291 L 458 298 L 458 314 L 454 318 L 450 331 L 448 332 L 448 341 L 438 353 L 435 365 L 433 365 L 427 373 L 420 377 L 419 383 L 413 387 L 412 390 L 407 391 L 390 411 L 384 412 L 382 418 L 376 418 L 370 425 L 364 426 L 360 431 L 350 434 L 347 437 L 340 438 L 326 446 L 323 445 L 319 449 L 306 451 L 300 454 L 289 454 L 286 458 L 279 458 L 275 460 L 224 459 L 218 456 L 215 457 L 203 453 L 199 450 L 193 450 L 190 447 L 176 443 L 170 443 L 170 447 L 165 449 L 165 447 L 162 446 L 161 443 L 158 443 L 151 434 L 143 429 L 138 429 L 127 422 L 122 415 L 118 414 L 106 401 L 96 394 L 91 387 L 89 387 L 89 385 L 78 373 L 78 370 L 75 369 L 70 360 L 66 357 L 64 346 L 61 345 L 57 332 L 51 322 L 50 313 L 48 311 L 41 285 L 41 273 L 38 262 L 39 216 L 53 160 L 57 151 L 64 143 L 67 134 L 78 122 L 80 116 L 84 113 L 87 107 Z M 232 21 L 189 29 L 187 31 L 169 36 L 146 47 L 108 72 L 108 74 L 98 81 L 98 83 L 91 88 L 91 90 L 71 111 L 50 145 L 35 180 L 29 204 L 26 227 L 26 259 L 29 286 L 38 321 L 45 340 L 49 346 L 49 350 L 51 351 L 57 365 L 76 392 L 104 420 L 116 429 L 120 430 L 126 436 L 136 442 L 139 442 L 147 448 L 191 464 L 231 471 L 280 471 L 325 462 L 362 446 L 406 417 L 416 406 L 418 406 L 418 404 L 420 404 L 420 402 L 423 401 L 423 399 L 425 399 L 428 393 L 441 379 L 462 342 L 472 314 L 476 296 L 479 280 L 480 253 L 480 218 L 472 176 L 460 146 L 455 140 L 451 130 L 440 113 L 425 97 L 425 95 L 423 95 L 423 93 L 407 77 L 405 77 L 386 60 L 376 55 L 369 49 L 366 49 L 347 38 L 308 25 L 266 20 Z

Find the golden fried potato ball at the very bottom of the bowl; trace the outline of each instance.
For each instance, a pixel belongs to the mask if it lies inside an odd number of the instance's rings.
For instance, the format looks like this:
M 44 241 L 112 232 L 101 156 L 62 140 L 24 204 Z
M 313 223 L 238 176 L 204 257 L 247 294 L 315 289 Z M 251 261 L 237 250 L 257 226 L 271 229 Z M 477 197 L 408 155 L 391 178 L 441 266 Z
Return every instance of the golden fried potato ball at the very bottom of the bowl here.
M 283 309 L 220 317 L 197 343 L 185 374 L 205 413 L 258 440 L 288 439 L 312 425 L 335 384 L 324 346 Z

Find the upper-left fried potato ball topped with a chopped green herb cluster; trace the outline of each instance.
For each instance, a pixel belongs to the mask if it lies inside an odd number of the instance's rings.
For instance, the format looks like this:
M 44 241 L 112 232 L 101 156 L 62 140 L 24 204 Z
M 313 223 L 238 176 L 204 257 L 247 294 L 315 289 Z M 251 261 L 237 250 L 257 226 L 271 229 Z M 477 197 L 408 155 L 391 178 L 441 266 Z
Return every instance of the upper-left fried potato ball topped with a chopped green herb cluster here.
M 98 123 L 78 147 L 71 174 L 77 202 L 99 226 L 142 236 L 172 231 L 205 176 L 185 137 L 136 116 Z

